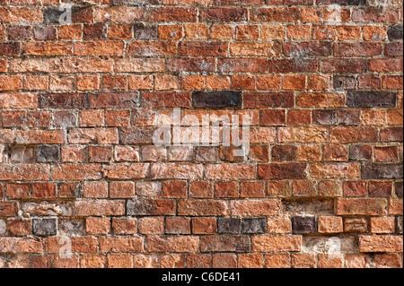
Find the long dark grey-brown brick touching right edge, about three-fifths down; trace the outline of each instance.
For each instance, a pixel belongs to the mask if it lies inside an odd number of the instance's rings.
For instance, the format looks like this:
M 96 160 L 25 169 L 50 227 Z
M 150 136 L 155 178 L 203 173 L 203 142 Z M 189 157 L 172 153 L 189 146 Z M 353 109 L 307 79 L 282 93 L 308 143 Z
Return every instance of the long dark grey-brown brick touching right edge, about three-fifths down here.
M 402 165 L 363 163 L 362 178 L 402 178 Z

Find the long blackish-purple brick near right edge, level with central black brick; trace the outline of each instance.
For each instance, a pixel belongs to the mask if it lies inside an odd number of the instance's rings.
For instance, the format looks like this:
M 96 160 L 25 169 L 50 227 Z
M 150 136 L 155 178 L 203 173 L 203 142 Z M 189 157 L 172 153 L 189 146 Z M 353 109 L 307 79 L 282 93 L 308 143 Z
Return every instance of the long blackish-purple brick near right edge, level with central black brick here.
M 391 91 L 347 91 L 347 106 L 351 108 L 393 108 L 396 92 Z

